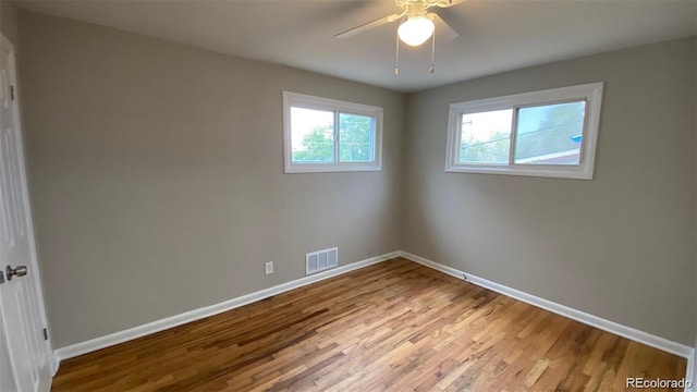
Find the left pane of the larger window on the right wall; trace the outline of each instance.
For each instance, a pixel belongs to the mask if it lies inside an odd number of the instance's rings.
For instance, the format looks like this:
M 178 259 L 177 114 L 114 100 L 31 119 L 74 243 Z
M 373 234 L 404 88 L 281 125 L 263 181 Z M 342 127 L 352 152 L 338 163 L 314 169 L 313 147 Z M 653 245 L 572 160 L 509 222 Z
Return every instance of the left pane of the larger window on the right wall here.
M 460 163 L 509 163 L 513 109 L 462 115 Z

